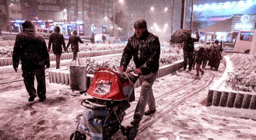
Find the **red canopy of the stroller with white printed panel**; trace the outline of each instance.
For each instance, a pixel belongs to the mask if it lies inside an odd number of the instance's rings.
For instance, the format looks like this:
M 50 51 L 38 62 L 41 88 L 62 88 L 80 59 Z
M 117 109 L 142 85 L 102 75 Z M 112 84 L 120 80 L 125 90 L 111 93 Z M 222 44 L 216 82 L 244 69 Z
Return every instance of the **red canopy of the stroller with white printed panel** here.
M 134 98 L 134 85 L 124 72 L 99 68 L 94 73 L 87 94 L 98 99 L 128 101 L 130 97 Z

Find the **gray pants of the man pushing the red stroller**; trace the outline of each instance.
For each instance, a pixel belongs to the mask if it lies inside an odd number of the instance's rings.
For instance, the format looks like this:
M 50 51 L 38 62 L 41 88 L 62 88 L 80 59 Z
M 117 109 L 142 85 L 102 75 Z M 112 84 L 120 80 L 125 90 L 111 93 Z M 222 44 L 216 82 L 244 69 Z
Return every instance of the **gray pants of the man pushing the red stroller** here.
M 137 103 L 134 117 L 133 119 L 142 119 L 144 116 L 144 112 L 146 109 L 146 105 L 148 103 L 148 109 L 154 110 L 156 109 L 155 97 L 153 95 L 152 85 L 156 80 L 157 72 L 148 74 L 148 75 L 141 75 L 139 77 L 140 82 L 140 98 Z

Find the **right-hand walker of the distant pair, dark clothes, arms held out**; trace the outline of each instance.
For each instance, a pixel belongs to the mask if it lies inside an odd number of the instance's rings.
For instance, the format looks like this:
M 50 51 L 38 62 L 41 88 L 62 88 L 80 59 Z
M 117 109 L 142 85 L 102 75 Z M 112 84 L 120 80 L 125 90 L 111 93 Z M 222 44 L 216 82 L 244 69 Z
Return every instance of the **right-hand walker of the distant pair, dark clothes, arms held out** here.
M 68 49 L 69 45 L 71 44 L 71 49 L 72 49 L 72 52 L 73 52 L 73 60 L 76 60 L 77 52 L 79 51 L 78 42 L 84 43 L 80 39 L 80 37 L 77 36 L 77 31 L 73 30 L 73 35 L 69 36 L 68 45 L 67 45 L 67 49 Z

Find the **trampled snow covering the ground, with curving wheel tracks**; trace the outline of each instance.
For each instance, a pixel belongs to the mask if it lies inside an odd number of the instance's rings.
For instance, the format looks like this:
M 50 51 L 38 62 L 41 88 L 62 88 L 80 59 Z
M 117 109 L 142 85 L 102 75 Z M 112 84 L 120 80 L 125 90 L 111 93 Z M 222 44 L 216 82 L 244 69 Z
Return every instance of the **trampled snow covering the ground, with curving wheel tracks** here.
M 6 69 L 6 68 L 5 68 Z M 0 68 L 1 70 L 1 68 Z M 144 116 L 136 140 L 256 140 L 256 121 L 219 116 L 218 111 L 205 107 L 208 89 L 224 72 L 206 70 L 196 78 L 195 70 L 179 70 L 153 85 L 156 113 Z M 21 74 L 20 74 L 21 77 Z M 8 74 L 1 79 L 8 78 Z M 11 87 L 6 89 L 6 87 Z M 0 87 L 0 140 L 67 140 L 76 124 L 76 116 L 84 107 L 84 95 L 63 95 L 69 86 L 50 84 L 46 77 L 47 99 L 28 102 L 22 81 Z M 129 125 L 138 101 L 140 88 L 135 89 L 136 101 L 126 110 L 122 124 Z M 253 111 L 253 110 L 252 110 Z M 90 140 L 90 138 L 88 138 Z M 111 140 L 126 139 L 120 133 Z

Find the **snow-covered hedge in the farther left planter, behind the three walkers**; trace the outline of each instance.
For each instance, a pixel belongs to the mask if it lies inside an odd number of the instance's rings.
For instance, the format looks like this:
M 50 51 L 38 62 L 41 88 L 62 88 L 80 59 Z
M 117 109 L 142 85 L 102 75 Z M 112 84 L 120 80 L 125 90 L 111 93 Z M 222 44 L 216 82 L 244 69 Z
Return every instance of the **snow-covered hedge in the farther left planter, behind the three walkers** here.
M 12 57 L 14 43 L 14 40 L 0 41 L 0 57 Z M 67 41 L 65 41 L 65 43 L 66 45 L 68 45 Z M 46 45 L 48 46 L 48 40 L 46 40 Z M 79 43 L 80 51 L 114 50 L 123 49 L 124 47 L 125 44 L 92 44 L 87 42 L 85 42 L 84 44 Z M 64 50 L 62 52 L 65 53 Z M 72 52 L 71 47 L 68 48 L 68 52 Z M 49 53 L 52 54 L 52 49 Z

